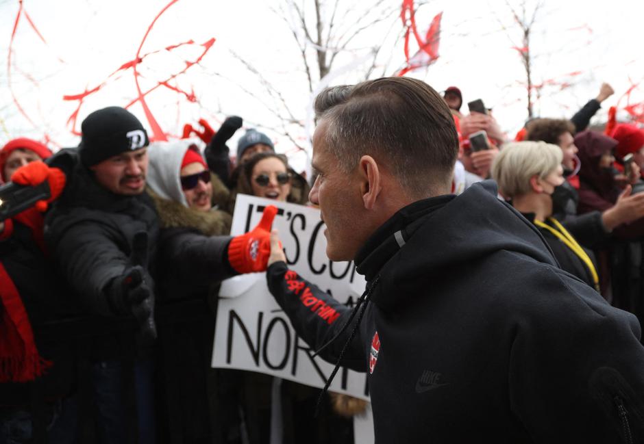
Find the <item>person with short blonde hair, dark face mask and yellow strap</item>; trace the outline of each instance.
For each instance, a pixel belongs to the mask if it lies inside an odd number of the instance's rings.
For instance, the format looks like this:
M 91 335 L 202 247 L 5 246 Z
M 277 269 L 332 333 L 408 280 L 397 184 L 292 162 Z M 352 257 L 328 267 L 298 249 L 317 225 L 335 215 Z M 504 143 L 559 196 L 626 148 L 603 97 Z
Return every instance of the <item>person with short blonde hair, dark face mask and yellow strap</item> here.
M 492 166 L 499 192 L 532 222 L 552 249 L 562 270 L 599 291 L 593 252 L 580 246 L 552 216 L 552 195 L 564 182 L 561 149 L 545 142 L 515 142 L 501 150 Z

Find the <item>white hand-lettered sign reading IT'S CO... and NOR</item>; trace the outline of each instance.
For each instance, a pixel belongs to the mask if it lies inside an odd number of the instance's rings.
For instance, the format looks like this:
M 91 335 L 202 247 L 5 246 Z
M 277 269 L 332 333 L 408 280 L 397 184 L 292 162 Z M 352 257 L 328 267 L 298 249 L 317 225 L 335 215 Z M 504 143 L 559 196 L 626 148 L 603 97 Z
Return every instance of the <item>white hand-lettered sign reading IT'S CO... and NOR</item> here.
M 353 262 L 327 258 L 325 226 L 318 209 L 240 194 L 231 234 L 240 235 L 256 226 L 267 205 L 278 209 L 273 228 L 280 232 L 288 267 L 352 306 L 364 291 L 364 277 Z M 212 367 L 258 371 L 312 387 L 324 386 L 334 365 L 312 357 L 314 350 L 297 337 L 269 292 L 265 273 L 227 279 L 219 295 Z M 369 400 L 367 375 L 342 368 L 330 391 Z

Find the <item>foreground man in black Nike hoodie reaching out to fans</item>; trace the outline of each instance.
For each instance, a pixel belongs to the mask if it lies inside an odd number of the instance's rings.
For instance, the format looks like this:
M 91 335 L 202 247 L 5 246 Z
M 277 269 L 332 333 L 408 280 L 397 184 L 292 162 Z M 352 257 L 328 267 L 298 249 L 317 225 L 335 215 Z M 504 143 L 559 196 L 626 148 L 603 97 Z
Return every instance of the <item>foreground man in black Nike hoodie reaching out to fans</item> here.
M 369 372 L 376 443 L 644 439 L 635 317 L 560 270 L 493 183 L 448 194 L 458 139 L 432 88 L 331 88 L 316 112 L 310 200 L 367 291 L 349 311 L 288 270 L 276 236 L 267 278 L 321 356 Z

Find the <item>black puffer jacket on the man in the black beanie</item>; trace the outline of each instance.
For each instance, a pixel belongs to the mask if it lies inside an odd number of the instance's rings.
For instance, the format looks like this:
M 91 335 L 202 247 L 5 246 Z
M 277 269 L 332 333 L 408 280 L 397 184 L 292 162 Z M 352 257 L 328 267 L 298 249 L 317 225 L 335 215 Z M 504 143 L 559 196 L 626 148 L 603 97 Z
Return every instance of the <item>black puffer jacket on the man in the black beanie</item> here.
M 106 289 L 114 278 L 136 265 L 132 254 L 137 233 L 147 238 L 147 251 L 140 256 L 144 261 L 146 257 L 153 260 L 159 222 L 151 198 L 147 194 L 113 194 L 77 163 L 62 196 L 45 218 L 45 241 L 82 309 L 99 315 L 123 314 L 114 313 Z M 149 270 L 153 264 L 142 265 Z M 152 287 L 151 276 L 145 279 Z

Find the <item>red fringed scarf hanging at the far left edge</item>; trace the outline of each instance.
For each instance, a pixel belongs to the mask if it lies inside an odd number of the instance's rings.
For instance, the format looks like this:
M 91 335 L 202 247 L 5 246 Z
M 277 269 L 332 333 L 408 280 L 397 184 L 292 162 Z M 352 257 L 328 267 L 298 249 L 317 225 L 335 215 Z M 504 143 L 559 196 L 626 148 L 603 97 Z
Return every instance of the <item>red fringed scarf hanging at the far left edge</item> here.
M 27 210 L 16 216 L 16 220 L 32 228 L 34 240 L 42 248 L 42 215 Z M 2 237 L 11 234 L 11 222 L 5 221 Z M 20 293 L 0 262 L 0 382 L 31 381 L 49 367 L 51 362 L 38 354 Z

